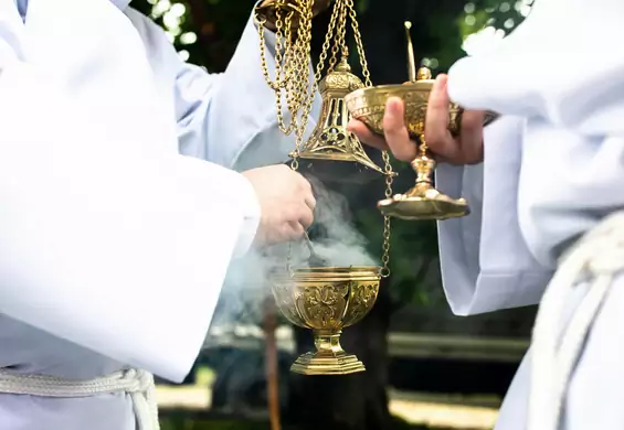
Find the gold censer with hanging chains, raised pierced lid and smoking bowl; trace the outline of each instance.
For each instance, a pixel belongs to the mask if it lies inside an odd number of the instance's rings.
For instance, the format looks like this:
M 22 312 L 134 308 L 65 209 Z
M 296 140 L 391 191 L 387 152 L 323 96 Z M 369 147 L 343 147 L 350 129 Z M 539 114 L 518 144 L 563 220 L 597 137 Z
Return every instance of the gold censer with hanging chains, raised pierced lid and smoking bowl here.
M 347 130 L 350 114 L 345 96 L 355 89 L 372 86 L 357 23 L 353 0 L 335 0 L 331 20 L 316 66 L 309 78 L 311 19 L 314 0 L 275 0 L 264 4 L 256 14 L 260 29 L 263 73 L 275 92 L 277 119 L 285 135 L 295 133 L 295 149 L 290 153 L 292 168 L 299 161 L 350 163 L 385 176 L 387 197 L 392 195 L 392 165 L 383 153 L 384 168 L 379 168 L 364 152 L 358 138 Z M 275 79 L 269 78 L 264 53 L 264 30 L 268 17 L 276 35 Z M 364 82 L 351 73 L 346 44 L 347 25 L 351 24 Z M 326 67 L 327 62 L 327 67 Z M 325 78 L 321 76 L 325 72 Z M 317 126 L 306 140 L 306 127 L 317 90 L 322 107 Z M 283 112 L 283 100 L 287 114 Z M 286 123 L 288 117 L 290 123 Z M 331 164 L 327 164 L 331 165 Z M 307 244 L 314 256 L 311 243 Z M 277 308 L 295 325 L 313 330 L 316 352 L 302 355 L 292 370 L 304 375 L 345 375 L 363 372 L 363 364 L 340 346 L 343 327 L 360 321 L 372 309 L 380 280 L 388 277 L 390 250 L 390 218 L 384 216 L 383 267 L 326 267 L 319 258 L 309 267 L 287 267 L 273 273 L 273 294 Z M 290 258 L 288 257 L 288 260 Z M 320 259 L 321 260 L 321 259 Z M 330 266 L 330 265 L 328 265 Z

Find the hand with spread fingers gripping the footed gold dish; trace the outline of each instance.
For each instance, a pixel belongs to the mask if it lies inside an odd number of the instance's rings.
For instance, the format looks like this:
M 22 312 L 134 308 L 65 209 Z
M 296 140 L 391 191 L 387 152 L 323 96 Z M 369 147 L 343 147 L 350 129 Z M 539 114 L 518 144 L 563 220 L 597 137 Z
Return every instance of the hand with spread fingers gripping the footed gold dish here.
M 438 162 L 451 164 L 476 164 L 483 161 L 483 121 L 485 112 L 466 110 L 462 117 L 459 136 L 454 138 L 448 131 L 448 93 L 446 75 L 440 75 L 429 97 L 425 123 L 425 141 Z M 383 117 L 384 137 L 374 135 L 361 121 L 351 120 L 349 130 L 371 147 L 390 150 L 401 161 L 413 161 L 417 146 L 410 139 L 404 121 L 405 107 L 398 97 L 388 99 Z

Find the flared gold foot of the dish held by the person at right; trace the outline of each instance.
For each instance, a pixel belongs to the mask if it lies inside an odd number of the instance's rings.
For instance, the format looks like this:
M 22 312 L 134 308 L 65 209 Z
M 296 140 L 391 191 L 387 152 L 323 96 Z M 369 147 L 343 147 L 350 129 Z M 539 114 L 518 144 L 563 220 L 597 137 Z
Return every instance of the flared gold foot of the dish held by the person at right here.
M 377 204 L 383 215 L 406 221 L 443 221 L 470 213 L 464 198 L 452 198 L 429 183 L 414 186 L 405 194 L 396 194 Z

